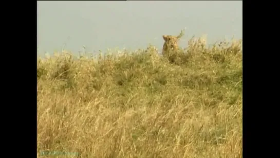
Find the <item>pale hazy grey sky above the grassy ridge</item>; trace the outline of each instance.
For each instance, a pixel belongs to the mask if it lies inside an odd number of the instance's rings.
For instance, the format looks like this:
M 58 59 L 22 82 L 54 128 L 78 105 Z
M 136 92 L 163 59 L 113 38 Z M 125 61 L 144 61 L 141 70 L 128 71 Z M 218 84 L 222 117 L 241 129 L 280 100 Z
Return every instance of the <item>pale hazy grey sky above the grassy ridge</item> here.
M 178 35 L 180 46 L 207 34 L 208 43 L 242 38 L 242 1 L 38 1 L 40 55 L 63 47 L 78 54 L 107 48 L 160 50 L 163 34 Z

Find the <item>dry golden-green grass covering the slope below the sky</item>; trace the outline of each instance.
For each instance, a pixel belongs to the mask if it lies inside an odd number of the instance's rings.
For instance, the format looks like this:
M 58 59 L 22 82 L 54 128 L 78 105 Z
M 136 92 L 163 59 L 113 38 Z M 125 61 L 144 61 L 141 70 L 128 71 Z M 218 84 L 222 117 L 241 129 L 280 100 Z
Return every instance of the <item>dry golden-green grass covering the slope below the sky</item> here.
M 38 157 L 242 157 L 241 41 L 38 60 Z

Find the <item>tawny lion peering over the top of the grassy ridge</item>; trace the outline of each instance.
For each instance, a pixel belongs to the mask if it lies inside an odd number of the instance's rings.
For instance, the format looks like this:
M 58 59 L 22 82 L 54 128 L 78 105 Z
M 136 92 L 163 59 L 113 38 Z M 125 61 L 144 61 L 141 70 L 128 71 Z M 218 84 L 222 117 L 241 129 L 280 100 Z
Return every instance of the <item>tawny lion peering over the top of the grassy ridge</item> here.
M 162 47 L 162 55 L 165 56 L 170 51 L 174 51 L 178 49 L 178 40 L 179 37 L 171 36 L 171 35 L 163 35 L 164 44 Z

